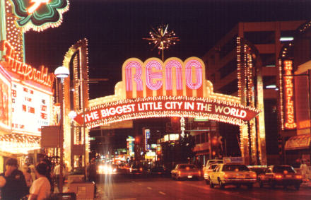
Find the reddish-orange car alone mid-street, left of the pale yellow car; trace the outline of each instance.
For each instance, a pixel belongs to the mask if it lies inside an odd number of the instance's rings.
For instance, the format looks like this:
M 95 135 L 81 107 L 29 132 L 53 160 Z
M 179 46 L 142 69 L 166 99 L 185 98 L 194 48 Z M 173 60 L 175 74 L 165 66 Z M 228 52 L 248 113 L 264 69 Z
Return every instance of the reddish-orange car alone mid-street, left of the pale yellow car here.
M 178 164 L 171 172 L 172 179 L 197 179 L 201 177 L 201 170 L 193 164 Z

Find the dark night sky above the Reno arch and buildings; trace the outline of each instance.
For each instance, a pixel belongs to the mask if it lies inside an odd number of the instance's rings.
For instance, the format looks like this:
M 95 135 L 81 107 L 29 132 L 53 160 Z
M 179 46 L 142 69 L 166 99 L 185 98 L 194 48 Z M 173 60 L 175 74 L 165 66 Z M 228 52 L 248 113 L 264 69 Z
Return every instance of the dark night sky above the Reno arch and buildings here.
M 203 57 L 238 22 L 308 20 L 310 0 L 70 0 L 58 28 L 25 33 L 26 63 L 44 64 L 53 72 L 71 45 L 89 42 L 90 78 L 109 78 L 90 84 L 90 99 L 112 95 L 122 80 L 122 64 L 130 57 L 145 61 L 159 57 L 148 45 L 151 28 L 169 24 L 180 42 L 165 58 Z

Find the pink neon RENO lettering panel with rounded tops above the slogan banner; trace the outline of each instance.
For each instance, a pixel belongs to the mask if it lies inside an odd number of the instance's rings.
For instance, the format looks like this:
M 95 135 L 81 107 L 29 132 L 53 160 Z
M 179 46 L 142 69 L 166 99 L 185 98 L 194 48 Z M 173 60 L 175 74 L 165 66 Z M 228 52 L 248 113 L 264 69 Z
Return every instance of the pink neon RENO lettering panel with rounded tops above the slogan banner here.
M 123 64 L 127 98 L 160 95 L 187 95 L 203 97 L 205 67 L 203 61 L 191 57 L 186 61 L 177 58 L 164 63 L 151 58 L 142 63 L 132 58 Z

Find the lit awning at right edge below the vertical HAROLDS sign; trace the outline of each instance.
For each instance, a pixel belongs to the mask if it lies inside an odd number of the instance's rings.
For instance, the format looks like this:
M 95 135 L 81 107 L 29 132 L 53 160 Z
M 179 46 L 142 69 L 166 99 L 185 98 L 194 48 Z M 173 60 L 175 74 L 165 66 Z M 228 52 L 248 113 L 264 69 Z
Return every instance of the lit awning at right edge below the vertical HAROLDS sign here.
M 285 150 L 310 148 L 311 134 L 292 136 L 285 144 Z

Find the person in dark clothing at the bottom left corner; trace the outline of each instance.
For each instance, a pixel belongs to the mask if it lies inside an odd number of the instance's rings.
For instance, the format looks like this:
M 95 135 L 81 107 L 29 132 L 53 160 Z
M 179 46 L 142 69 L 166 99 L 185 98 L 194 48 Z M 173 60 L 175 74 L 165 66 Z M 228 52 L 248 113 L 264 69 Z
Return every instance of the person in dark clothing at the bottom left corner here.
M 1 177 L 1 199 L 20 200 L 28 194 L 28 189 L 23 172 L 18 170 L 16 158 L 6 160 L 6 171 Z

